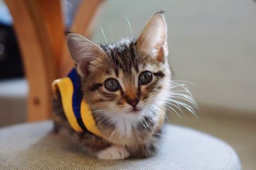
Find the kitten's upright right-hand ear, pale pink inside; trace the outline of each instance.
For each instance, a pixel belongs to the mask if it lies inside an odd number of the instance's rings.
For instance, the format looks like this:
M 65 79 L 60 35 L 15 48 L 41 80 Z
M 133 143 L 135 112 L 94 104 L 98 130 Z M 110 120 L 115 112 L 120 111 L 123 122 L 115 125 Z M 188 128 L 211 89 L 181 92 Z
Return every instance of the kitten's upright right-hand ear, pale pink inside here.
M 137 40 L 138 49 L 159 62 L 165 62 L 168 55 L 166 29 L 163 12 L 152 15 Z

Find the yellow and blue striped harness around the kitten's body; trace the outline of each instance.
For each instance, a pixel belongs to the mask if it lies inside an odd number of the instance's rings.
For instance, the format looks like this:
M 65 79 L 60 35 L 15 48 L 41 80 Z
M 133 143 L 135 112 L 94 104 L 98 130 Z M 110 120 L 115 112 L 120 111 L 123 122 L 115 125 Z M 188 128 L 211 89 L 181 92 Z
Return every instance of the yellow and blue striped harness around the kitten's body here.
M 102 137 L 92 116 L 92 111 L 83 99 L 80 76 L 75 68 L 70 71 L 67 77 L 52 82 L 54 97 L 57 97 L 57 89 L 60 90 L 63 110 L 74 131 L 90 131 Z

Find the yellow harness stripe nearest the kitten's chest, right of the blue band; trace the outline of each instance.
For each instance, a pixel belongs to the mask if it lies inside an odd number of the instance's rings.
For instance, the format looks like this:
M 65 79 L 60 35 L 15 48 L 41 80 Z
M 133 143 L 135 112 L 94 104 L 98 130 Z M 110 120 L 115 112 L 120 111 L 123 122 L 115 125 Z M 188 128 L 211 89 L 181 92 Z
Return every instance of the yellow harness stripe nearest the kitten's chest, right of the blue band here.
M 90 110 L 88 104 L 86 104 L 85 101 L 82 101 L 81 103 L 81 117 L 88 131 L 92 132 L 93 134 L 97 134 L 98 136 L 103 138 L 92 116 L 92 111 Z

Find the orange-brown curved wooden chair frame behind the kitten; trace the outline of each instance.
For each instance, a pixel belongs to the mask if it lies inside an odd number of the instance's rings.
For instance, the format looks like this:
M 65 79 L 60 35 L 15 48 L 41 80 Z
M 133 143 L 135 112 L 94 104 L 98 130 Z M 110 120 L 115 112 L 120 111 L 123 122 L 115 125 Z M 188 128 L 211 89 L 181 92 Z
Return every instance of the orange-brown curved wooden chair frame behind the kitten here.
M 60 1 L 6 0 L 29 83 L 28 122 L 51 118 L 51 83 L 74 67 L 65 45 Z M 69 31 L 90 37 L 102 0 L 81 1 Z

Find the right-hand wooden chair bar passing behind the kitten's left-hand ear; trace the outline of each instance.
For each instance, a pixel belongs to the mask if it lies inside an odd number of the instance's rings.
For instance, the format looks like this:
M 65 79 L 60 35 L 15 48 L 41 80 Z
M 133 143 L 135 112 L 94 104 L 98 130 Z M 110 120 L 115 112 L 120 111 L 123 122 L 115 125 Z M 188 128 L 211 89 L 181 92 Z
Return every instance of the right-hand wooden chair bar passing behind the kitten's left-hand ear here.
M 102 2 L 103 0 L 81 1 L 70 31 L 82 34 L 85 37 L 90 37 L 92 27 L 95 24 L 95 18 L 100 11 L 99 8 Z M 62 57 L 60 70 L 58 72 L 60 77 L 67 75 L 68 71 L 74 67 L 67 45 L 63 45 Z

